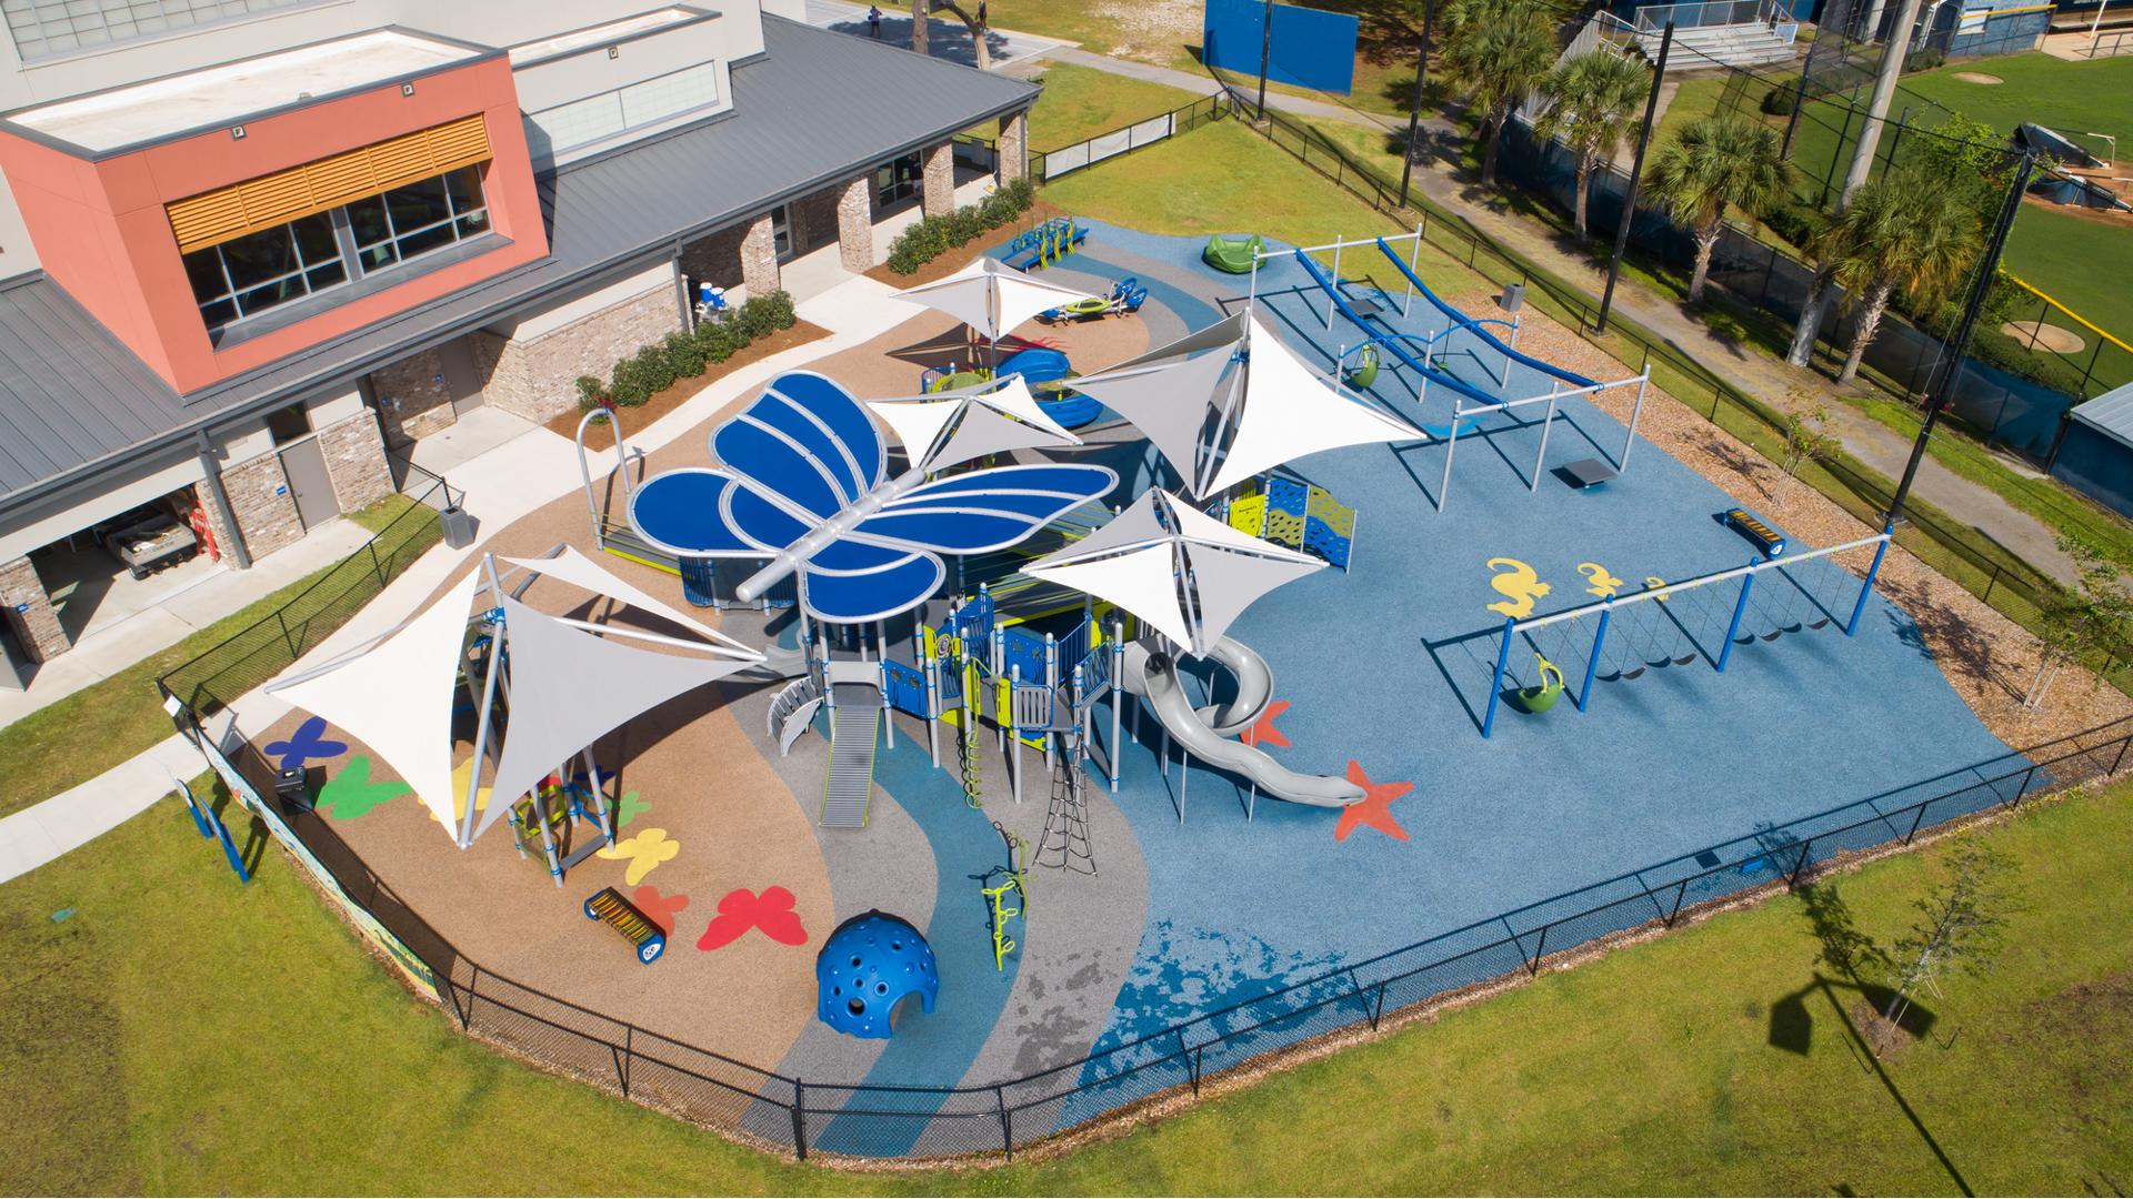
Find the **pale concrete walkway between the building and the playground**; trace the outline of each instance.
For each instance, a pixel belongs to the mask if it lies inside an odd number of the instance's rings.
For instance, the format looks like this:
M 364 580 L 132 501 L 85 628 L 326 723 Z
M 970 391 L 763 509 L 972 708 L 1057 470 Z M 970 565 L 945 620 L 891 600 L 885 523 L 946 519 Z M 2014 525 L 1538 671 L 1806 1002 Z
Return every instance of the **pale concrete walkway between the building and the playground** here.
M 862 346 L 911 316 L 913 307 L 892 299 L 892 288 L 864 275 L 851 277 L 800 303 L 800 318 L 828 329 L 828 339 L 796 346 L 712 380 L 674 412 L 642 431 L 634 431 L 629 444 L 646 452 L 665 446 L 753 393 L 779 371 Z M 595 471 L 604 465 L 612 467 L 612 463 L 593 463 Z M 580 491 L 578 450 L 567 437 L 542 427 L 527 427 L 525 433 L 452 467 L 452 486 L 465 489 L 465 508 L 480 521 L 476 544 L 465 550 L 442 544 L 431 548 L 348 625 L 290 670 L 309 670 L 399 627 L 437 587 L 482 553 L 482 542 L 491 533 L 561 495 Z M 258 689 L 239 698 L 230 713 L 207 721 L 207 732 L 222 736 L 232 723 L 258 730 L 282 719 L 284 713 L 288 713 L 288 704 Z M 173 794 L 171 779 L 192 779 L 203 766 L 201 753 L 186 738 L 173 734 L 79 787 L 0 817 L 0 883 L 147 811 L 156 800 Z

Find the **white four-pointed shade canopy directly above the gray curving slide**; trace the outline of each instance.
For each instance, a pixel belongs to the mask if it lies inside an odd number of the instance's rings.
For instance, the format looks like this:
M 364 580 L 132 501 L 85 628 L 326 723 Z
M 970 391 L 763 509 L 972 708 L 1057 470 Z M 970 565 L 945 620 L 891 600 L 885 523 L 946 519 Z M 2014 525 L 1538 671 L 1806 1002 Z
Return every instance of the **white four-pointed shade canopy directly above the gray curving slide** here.
M 1148 489 L 1109 525 L 1026 565 L 1024 574 L 1109 600 L 1203 655 L 1261 595 L 1320 567 L 1310 555 Z

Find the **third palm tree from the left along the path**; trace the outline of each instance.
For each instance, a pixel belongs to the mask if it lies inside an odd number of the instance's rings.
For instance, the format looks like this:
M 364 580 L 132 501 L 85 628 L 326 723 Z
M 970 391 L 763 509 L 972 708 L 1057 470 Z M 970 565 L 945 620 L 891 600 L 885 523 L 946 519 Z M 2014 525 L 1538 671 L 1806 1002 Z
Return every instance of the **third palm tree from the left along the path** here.
M 1681 126 L 1651 166 L 1645 190 L 1696 239 L 1689 303 L 1702 303 L 1711 250 L 1726 209 L 1762 209 L 1792 186 L 1777 130 L 1743 117 L 1696 117 Z

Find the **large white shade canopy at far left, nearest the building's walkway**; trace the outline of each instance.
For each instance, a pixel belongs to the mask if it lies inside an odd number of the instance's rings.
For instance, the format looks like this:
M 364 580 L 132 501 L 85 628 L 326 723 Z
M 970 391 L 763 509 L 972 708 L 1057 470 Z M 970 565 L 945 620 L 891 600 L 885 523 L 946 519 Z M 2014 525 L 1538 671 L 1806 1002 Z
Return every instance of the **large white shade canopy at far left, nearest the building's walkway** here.
M 273 687 L 284 700 L 324 717 L 388 762 L 414 787 L 422 806 L 452 830 L 461 847 L 488 830 L 512 800 L 570 755 L 648 708 L 704 683 L 761 661 L 761 653 L 706 629 L 640 589 L 565 548 L 552 559 L 506 559 L 700 632 L 710 644 L 608 629 L 712 657 L 629 649 L 574 621 L 503 597 L 503 644 L 510 655 L 510 719 L 493 802 L 476 824 L 467 796 L 452 779 L 452 708 L 465 661 L 467 619 L 482 572 L 467 572 L 424 612 L 386 640 Z M 480 770 L 467 779 L 476 792 Z M 478 806 L 478 804 L 474 804 Z

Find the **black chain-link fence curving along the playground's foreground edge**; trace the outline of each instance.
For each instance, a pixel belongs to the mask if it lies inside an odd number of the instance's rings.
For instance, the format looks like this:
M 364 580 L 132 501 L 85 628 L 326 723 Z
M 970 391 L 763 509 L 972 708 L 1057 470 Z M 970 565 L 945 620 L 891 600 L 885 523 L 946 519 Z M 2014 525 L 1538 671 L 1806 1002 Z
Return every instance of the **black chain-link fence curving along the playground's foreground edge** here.
M 1913 787 L 1764 828 L 1352 962 L 1160 1033 L 1098 1045 L 1058 1067 L 983 1086 L 800 1080 L 640 1028 L 497 975 L 459 954 L 309 811 L 284 811 L 252 742 L 179 728 L 239 800 L 318 877 L 399 969 L 435 992 L 461 1028 L 544 1067 L 770 1150 L 857 1158 L 1013 1156 L 1122 1107 L 1199 1094 L 1205 1080 L 1312 1041 L 1376 1030 L 1463 988 L 1538 975 L 1598 939 L 1672 928 L 1698 907 L 1764 885 L 1798 885 L 1862 851 L 1909 845 L 1952 819 L 2107 779 L 2127 764 L 2133 719 L 1954 770 Z M 1920 796 L 1905 802 L 1909 796 Z

